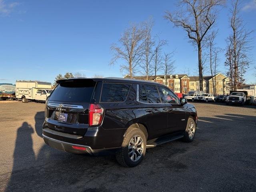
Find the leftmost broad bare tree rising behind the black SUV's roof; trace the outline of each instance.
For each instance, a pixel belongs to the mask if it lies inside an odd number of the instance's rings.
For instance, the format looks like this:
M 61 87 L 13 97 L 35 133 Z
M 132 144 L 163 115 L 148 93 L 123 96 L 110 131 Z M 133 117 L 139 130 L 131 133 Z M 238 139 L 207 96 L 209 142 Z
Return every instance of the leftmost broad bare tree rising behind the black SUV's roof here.
M 122 59 L 125 64 L 121 65 L 120 70 L 121 72 L 129 73 L 130 78 L 136 73 L 136 68 L 140 64 L 144 52 L 143 34 L 142 24 L 132 24 L 118 40 L 120 46 L 113 44 L 110 48 L 114 52 L 114 57 L 110 64 L 114 64 L 117 60 Z

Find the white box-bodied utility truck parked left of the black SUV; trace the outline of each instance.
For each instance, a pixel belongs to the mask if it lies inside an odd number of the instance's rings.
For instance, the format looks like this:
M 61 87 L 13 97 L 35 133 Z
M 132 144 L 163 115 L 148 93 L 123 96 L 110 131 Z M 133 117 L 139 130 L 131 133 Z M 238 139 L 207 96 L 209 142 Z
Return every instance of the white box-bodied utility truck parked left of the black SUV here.
M 42 81 L 16 81 L 16 98 L 23 103 L 29 101 L 46 101 L 52 92 L 52 84 Z

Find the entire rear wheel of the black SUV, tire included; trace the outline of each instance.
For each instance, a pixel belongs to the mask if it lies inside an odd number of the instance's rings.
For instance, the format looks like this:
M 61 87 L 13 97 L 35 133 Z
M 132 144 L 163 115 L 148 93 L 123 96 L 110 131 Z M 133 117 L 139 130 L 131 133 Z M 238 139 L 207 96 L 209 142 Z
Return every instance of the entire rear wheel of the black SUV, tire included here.
M 134 140 L 136 144 L 136 139 L 138 140 L 138 144 L 133 145 Z M 138 128 L 128 129 L 124 136 L 122 147 L 116 153 L 118 163 L 126 167 L 135 167 L 140 164 L 146 153 L 146 142 L 146 137 L 142 130 Z M 137 147 L 142 148 L 142 150 Z

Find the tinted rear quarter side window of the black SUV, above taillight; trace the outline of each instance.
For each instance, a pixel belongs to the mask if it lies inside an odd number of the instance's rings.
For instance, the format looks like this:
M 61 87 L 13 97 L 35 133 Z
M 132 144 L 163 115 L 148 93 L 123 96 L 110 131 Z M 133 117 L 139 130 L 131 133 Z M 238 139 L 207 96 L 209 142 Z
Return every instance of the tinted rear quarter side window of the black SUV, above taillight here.
M 103 83 L 100 102 L 123 102 L 130 88 L 131 84 Z

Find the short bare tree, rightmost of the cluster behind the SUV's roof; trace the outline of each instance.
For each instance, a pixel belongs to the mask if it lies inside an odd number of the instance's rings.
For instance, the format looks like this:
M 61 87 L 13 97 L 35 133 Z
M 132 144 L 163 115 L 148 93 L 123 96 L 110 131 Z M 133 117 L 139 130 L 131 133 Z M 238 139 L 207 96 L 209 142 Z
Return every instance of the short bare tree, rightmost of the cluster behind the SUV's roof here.
M 164 53 L 163 63 L 162 63 L 162 70 L 164 72 L 165 78 L 165 85 L 167 85 L 167 76 L 174 73 L 174 60 L 172 60 L 174 52 L 171 53 Z

